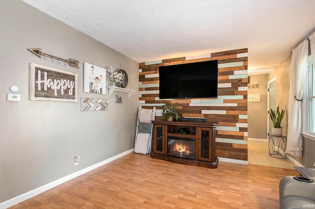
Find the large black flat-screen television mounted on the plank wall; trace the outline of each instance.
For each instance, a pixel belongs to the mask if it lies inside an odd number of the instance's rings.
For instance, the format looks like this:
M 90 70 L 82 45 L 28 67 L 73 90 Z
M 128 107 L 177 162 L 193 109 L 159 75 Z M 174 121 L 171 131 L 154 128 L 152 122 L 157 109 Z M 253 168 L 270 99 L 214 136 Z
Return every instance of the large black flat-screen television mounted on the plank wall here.
M 218 60 L 160 66 L 160 99 L 218 98 Z

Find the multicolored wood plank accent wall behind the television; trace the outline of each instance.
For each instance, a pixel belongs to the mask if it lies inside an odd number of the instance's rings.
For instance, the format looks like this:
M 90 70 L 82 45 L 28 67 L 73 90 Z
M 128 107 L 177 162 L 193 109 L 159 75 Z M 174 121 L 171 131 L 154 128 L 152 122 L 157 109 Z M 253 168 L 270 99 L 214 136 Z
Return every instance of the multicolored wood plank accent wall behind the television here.
M 208 60 L 218 60 L 218 99 L 179 99 L 182 117 L 205 117 L 218 122 L 216 155 L 237 160 L 248 160 L 247 143 L 247 84 L 248 49 L 178 57 L 139 64 L 139 105 L 152 109 L 161 119 L 161 105 L 169 100 L 159 99 L 158 67 Z

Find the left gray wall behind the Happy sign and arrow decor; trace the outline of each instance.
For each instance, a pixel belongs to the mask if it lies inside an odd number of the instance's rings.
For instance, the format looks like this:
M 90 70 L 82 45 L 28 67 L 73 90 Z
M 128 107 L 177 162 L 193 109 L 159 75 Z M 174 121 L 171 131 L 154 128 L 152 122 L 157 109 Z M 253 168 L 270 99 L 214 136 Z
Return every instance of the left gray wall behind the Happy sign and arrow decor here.
M 139 64 L 21 0 L 0 1 L 0 203 L 133 148 Z M 80 69 L 40 59 L 27 48 L 79 60 Z M 83 92 L 83 63 L 128 74 L 111 96 Z M 80 111 L 80 102 L 29 100 L 30 63 L 78 74 L 78 99 L 109 100 L 108 111 Z M 6 101 L 11 85 L 21 102 Z M 108 92 L 108 91 L 107 91 Z M 123 104 L 115 103 L 115 94 Z M 81 156 L 74 166 L 73 157 Z

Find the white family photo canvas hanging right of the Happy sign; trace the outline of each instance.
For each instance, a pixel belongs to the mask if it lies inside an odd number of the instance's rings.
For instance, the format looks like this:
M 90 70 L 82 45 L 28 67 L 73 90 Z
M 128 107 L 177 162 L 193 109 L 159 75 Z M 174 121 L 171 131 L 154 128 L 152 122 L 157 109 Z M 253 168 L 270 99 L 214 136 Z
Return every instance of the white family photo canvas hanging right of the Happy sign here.
M 106 94 L 106 70 L 105 68 L 84 63 L 84 92 Z

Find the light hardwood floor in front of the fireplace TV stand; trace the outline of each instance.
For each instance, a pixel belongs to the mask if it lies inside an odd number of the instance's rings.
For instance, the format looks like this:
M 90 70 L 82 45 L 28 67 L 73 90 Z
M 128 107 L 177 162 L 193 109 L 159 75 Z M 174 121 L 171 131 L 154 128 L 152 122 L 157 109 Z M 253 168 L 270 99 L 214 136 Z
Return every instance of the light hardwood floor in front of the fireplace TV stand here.
M 131 153 L 12 209 L 277 209 L 295 170 L 219 162 L 217 169 Z

